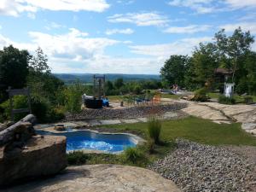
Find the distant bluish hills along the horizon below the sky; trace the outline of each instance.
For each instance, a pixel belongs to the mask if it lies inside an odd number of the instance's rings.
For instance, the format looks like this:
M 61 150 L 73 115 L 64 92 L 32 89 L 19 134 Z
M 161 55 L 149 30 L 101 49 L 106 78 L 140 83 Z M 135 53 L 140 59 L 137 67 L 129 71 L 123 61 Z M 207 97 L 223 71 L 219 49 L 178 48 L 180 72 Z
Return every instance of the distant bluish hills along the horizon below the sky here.
M 55 77 L 63 80 L 65 83 L 73 83 L 77 79 L 81 83 L 92 83 L 93 75 L 91 73 L 54 73 Z M 160 75 L 154 74 L 119 74 L 119 73 L 108 73 L 106 75 L 106 80 L 113 81 L 115 79 L 122 78 L 124 81 L 134 81 L 134 80 L 160 80 Z

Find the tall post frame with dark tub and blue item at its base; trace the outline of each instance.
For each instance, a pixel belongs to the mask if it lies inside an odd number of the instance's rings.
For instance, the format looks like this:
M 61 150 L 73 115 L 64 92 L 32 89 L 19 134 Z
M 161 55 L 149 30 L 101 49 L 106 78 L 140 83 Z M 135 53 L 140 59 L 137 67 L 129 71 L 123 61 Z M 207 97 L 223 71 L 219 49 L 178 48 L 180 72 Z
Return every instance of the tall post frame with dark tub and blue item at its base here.
M 93 76 L 93 96 L 83 95 L 86 108 L 109 107 L 108 98 L 105 97 L 105 75 Z

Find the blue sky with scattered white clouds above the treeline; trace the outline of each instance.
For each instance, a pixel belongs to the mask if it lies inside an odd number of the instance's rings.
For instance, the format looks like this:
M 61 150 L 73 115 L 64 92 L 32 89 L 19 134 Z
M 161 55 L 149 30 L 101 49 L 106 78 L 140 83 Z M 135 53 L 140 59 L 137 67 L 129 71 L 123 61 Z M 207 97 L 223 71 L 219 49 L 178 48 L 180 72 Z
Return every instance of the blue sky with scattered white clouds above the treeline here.
M 0 49 L 39 46 L 53 73 L 159 74 L 238 26 L 256 35 L 256 0 L 0 0 Z

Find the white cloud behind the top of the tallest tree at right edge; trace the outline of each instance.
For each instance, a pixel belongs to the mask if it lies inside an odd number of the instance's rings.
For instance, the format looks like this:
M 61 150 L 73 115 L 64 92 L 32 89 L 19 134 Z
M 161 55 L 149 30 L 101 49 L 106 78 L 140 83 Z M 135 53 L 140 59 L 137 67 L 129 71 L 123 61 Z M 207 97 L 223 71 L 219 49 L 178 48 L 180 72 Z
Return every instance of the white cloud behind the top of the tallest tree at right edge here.
M 232 23 L 219 26 L 219 28 L 225 29 L 226 32 L 234 32 L 239 26 L 241 26 L 242 31 L 250 31 L 252 34 L 256 34 L 256 22 Z

